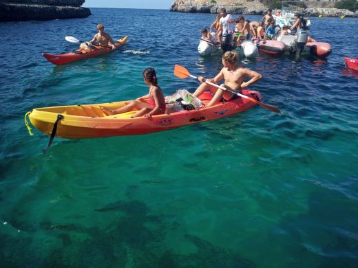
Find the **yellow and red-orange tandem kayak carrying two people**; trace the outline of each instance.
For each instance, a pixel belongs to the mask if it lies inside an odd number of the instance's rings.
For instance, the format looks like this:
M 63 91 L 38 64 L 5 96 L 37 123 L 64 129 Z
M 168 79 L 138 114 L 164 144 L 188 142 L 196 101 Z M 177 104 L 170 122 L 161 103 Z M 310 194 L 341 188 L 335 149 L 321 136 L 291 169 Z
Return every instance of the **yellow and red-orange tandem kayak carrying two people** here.
M 262 99 L 262 96 L 257 91 L 242 90 L 242 94 L 256 100 Z M 204 92 L 200 96 L 200 100 L 204 104 L 209 103 L 211 98 L 212 96 L 209 92 Z M 145 117 L 131 118 L 131 115 L 134 115 L 137 111 L 106 115 L 101 109 L 101 106 L 107 109 L 118 109 L 128 102 L 37 108 L 28 112 L 27 115 L 29 115 L 32 125 L 43 133 L 69 139 L 83 139 L 167 131 L 180 126 L 235 115 L 251 109 L 255 105 L 254 102 L 246 98 L 237 98 L 228 102 L 218 102 L 212 107 L 204 107 L 199 110 L 154 115 L 151 120 Z M 25 123 L 28 126 L 26 120 Z

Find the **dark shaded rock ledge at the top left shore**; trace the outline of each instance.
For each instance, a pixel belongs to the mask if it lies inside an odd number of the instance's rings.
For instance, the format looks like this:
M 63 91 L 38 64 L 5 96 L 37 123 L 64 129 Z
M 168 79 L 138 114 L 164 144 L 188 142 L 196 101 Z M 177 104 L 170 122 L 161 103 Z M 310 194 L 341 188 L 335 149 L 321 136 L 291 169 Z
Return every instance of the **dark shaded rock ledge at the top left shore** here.
M 84 0 L 0 0 L 0 21 L 47 21 L 91 15 Z

